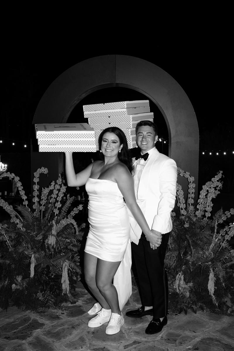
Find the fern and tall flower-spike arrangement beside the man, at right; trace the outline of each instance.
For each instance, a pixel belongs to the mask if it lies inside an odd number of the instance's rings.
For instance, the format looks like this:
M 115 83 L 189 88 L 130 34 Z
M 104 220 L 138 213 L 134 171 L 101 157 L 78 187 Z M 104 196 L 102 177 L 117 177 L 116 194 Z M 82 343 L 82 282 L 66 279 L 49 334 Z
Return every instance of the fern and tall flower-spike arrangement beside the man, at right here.
M 178 168 L 180 176 L 189 181 L 188 199 L 177 184 L 178 210 L 172 212 L 173 231 L 169 239 L 165 265 L 169 276 L 171 310 L 187 313 L 190 308 L 205 306 L 222 313 L 234 312 L 234 250 L 229 240 L 234 224 L 228 218 L 234 209 L 223 213 L 220 209 L 211 216 L 212 199 L 219 194 L 222 171 L 202 187 L 198 204 L 194 203 L 194 178 Z M 230 220 L 229 220 L 230 221 Z

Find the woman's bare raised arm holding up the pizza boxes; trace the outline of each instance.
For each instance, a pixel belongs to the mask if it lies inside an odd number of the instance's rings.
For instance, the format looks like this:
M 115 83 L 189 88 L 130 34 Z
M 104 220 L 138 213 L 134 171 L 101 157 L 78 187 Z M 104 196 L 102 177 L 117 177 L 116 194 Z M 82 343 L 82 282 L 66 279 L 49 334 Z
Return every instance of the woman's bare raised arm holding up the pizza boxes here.
M 65 157 L 66 157 L 65 169 L 66 169 L 67 185 L 68 186 L 85 185 L 87 179 L 91 174 L 93 163 L 88 165 L 88 167 L 86 167 L 83 171 L 75 174 L 73 159 L 72 159 L 72 152 L 65 152 Z

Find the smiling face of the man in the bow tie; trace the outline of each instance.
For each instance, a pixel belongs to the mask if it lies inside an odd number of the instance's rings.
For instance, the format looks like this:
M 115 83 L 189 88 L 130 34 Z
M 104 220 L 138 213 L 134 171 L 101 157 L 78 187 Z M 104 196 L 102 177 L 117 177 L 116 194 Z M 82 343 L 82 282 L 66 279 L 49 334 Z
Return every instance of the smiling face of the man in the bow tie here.
M 158 135 L 150 126 L 140 126 L 136 133 L 136 143 L 140 147 L 142 154 L 151 150 L 156 141 L 158 140 Z

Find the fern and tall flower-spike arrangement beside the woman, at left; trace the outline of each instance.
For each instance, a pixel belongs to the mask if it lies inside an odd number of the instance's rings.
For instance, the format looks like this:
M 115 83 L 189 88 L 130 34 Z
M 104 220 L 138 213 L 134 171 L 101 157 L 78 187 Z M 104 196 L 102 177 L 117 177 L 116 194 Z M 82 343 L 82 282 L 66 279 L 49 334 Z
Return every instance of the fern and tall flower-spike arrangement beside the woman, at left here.
M 61 176 L 48 188 L 42 188 L 39 198 L 39 175 L 47 173 L 39 168 L 34 173 L 33 209 L 30 210 L 22 184 L 13 173 L 2 177 L 16 180 L 23 206 L 11 205 L 0 198 L 11 220 L 0 223 L 0 306 L 9 305 L 38 310 L 57 307 L 67 298 L 71 302 L 72 289 L 79 280 L 80 242 L 85 226 L 77 226 L 74 215 L 82 205 L 70 210 L 72 199 L 61 206 L 66 187 Z

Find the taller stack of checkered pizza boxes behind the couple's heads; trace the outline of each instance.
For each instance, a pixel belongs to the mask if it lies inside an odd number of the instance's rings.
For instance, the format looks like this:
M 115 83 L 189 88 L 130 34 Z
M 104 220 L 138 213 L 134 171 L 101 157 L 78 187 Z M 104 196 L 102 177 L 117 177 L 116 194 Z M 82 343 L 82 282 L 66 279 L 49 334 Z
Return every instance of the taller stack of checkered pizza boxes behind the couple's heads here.
M 142 120 L 153 122 L 154 114 L 149 110 L 149 100 L 108 102 L 83 106 L 88 124 L 95 130 L 96 149 L 101 131 L 108 127 L 119 127 L 125 133 L 128 148 L 137 147 L 135 127 Z

